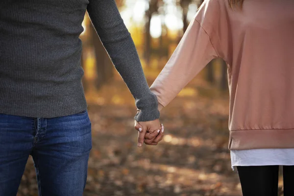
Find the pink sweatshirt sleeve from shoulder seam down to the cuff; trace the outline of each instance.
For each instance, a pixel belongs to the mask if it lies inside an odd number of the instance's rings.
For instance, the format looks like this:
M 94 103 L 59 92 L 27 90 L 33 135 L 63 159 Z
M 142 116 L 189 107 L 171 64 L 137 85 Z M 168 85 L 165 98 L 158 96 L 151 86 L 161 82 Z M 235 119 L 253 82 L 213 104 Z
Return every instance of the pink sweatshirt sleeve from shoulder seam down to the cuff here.
M 209 35 L 194 19 L 186 30 L 170 60 L 151 85 L 151 91 L 162 106 L 173 98 L 212 59 L 218 57 Z

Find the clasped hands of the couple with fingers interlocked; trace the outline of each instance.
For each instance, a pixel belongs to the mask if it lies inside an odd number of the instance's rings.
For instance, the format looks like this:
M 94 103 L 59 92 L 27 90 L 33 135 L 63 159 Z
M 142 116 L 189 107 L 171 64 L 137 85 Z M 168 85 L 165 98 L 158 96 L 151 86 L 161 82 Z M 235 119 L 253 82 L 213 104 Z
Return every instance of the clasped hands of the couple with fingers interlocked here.
M 164 127 L 160 125 L 158 119 L 147 122 L 135 121 L 135 129 L 139 131 L 138 147 L 142 147 L 143 143 L 157 145 L 163 138 Z

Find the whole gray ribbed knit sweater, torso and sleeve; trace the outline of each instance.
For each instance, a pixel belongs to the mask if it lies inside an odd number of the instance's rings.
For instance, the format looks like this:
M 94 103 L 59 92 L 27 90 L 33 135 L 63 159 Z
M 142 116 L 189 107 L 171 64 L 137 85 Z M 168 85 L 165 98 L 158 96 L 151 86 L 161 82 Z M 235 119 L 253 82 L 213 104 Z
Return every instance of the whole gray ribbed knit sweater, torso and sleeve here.
M 115 0 L 1 0 L 0 113 L 53 118 L 87 109 L 79 39 L 86 10 L 140 109 L 135 120 L 159 118 Z

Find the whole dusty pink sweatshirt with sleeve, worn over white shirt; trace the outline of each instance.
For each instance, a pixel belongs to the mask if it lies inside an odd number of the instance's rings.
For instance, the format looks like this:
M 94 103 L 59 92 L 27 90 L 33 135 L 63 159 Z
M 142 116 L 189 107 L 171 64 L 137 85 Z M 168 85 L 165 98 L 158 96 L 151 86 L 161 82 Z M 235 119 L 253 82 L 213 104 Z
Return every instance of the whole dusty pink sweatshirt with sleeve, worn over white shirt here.
M 294 148 L 294 0 L 244 0 L 234 10 L 227 0 L 204 0 L 150 89 L 166 106 L 221 57 L 229 149 Z

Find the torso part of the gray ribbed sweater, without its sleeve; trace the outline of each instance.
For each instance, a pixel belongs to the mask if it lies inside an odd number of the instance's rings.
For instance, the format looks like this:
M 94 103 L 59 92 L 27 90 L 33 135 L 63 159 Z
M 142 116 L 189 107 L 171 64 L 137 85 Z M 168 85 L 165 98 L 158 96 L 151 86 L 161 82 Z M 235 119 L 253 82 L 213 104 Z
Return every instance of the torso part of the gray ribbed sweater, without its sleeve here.
M 1 1 L 0 113 L 55 117 L 86 109 L 79 35 L 88 3 Z

